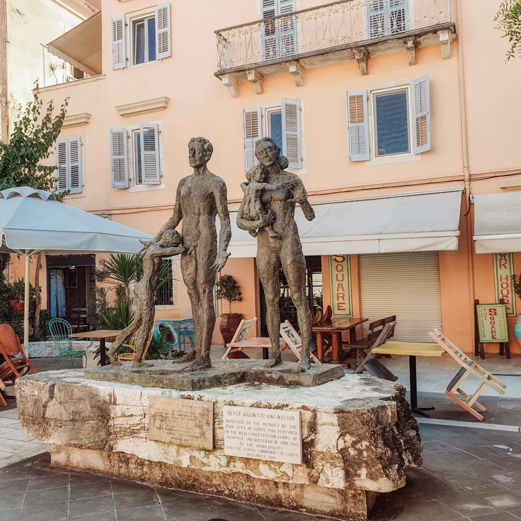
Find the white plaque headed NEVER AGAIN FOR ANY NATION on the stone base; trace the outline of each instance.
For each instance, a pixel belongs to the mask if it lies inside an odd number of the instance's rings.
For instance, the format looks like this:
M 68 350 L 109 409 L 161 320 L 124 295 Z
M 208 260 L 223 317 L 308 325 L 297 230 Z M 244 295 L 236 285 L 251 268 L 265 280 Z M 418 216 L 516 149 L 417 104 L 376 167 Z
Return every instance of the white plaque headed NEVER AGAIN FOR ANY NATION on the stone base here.
M 227 456 L 302 463 L 300 411 L 225 405 L 222 426 Z

